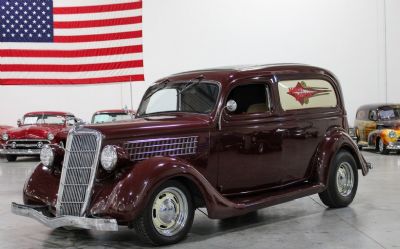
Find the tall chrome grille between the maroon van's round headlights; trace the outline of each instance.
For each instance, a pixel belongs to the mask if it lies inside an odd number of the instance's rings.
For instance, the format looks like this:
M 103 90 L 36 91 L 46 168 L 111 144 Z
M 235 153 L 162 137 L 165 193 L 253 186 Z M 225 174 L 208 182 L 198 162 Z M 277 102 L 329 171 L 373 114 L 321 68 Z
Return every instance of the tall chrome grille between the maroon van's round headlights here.
M 82 216 L 90 199 L 99 160 L 101 134 L 94 130 L 71 131 L 57 198 L 57 216 Z

